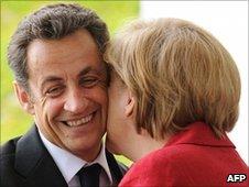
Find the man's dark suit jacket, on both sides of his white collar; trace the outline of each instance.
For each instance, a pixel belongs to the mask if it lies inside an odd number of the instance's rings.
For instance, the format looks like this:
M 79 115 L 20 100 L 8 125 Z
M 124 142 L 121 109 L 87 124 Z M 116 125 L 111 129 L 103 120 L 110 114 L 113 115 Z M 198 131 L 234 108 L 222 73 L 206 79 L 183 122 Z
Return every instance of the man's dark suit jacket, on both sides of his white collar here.
M 108 151 L 106 156 L 117 185 L 124 175 L 126 167 L 118 164 Z M 0 160 L 1 187 L 67 187 L 35 125 L 25 135 L 1 146 Z

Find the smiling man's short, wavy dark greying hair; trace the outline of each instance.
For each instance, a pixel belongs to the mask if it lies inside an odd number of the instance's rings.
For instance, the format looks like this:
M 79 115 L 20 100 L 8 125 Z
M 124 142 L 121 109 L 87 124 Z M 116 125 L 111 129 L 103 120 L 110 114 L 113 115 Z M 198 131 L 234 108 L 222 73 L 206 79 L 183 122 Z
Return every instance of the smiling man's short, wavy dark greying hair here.
M 79 29 L 86 29 L 104 53 L 109 33 L 106 23 L 90 9 L 78 4 L 52 4 L 24 18 L 12 35 L 8 61 L 15 80 L 29 90 L 26 48 L 35 40 L 59 40 Z

